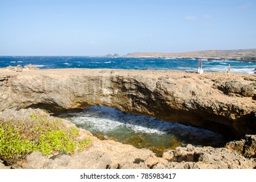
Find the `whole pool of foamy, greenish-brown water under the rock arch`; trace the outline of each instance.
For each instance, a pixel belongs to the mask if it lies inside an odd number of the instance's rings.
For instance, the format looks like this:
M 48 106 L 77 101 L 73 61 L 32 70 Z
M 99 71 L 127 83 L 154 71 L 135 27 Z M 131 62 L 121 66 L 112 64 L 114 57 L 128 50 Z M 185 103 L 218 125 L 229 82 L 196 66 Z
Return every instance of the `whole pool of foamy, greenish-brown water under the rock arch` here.
M 161 155 L 165 149 L 192 144 L 194 146 L 220 147 L 222 135 L 206 129 L 163 122 L 157 118 L 128 114 L 111 107 L 89 107 L 82 112 L 61 114 L 78 127 L 87 129 L 100 139 L 110 139 L 148 148 Z

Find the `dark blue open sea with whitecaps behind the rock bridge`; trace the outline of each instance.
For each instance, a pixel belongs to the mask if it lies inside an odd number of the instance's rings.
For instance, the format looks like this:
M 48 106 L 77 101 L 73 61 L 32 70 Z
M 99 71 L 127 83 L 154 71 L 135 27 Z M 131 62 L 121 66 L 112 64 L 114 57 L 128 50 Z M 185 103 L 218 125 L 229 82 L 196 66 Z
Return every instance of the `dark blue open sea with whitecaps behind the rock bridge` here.
M 57 68 L 109 68 L 125 70 L 183 70 L 197 71 L 197 59 L 164 59 L 164 58 L 114 58 L 114 57 L 0 57 L 0 68 L 7 66 L 25 66 L 34 64 L 40 69 Z M 254 73 L 255 62 L 238 62 L 230 60 L 203 60 L 206 72 Z

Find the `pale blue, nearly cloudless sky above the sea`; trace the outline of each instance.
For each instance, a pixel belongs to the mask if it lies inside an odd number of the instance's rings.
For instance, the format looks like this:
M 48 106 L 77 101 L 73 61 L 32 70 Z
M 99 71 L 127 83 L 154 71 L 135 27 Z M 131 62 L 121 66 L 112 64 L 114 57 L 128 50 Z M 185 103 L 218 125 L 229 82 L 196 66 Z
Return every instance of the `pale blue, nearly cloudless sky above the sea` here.
M 256 48 L 255 0 L 0 0 L 0 55 Z

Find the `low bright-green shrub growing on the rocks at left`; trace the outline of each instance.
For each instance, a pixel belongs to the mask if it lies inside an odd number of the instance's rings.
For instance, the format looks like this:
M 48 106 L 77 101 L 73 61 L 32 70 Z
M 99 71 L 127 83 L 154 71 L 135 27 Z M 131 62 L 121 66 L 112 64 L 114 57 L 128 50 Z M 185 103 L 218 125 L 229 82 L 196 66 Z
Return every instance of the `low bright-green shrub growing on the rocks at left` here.
M 25 118 L 0 118 L 0 158 L 13 163 L 33 151 L 50 155 L 57 151 L 68 154 L 91 145 L 89 138 L 77 140 L 76 127 L 66 127 L 48 114 L 32 113 Z

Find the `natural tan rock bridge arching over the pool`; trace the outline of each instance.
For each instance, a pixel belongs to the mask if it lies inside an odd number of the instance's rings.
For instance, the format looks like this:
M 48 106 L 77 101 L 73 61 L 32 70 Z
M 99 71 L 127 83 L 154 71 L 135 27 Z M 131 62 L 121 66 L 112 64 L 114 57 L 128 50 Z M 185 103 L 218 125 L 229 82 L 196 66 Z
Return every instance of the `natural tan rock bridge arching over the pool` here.
M 256 133 L 256 75 L 154 70 L 0 70 L 0 111 L 94 105 L 244 138 Z

